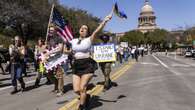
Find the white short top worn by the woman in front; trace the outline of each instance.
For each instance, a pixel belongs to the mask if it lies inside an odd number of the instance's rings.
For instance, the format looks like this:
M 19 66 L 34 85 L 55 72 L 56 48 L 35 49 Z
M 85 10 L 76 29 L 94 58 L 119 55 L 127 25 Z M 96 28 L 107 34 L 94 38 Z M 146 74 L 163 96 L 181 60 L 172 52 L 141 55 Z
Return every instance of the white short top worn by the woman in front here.
M 78 44 L 79 39 L 73 39 L 70 43 L 72 44 L 72 50 L 75 52 L 76 59 L 83 59 L 90 57 L 91 39 L 90 37 L 84 38 Z

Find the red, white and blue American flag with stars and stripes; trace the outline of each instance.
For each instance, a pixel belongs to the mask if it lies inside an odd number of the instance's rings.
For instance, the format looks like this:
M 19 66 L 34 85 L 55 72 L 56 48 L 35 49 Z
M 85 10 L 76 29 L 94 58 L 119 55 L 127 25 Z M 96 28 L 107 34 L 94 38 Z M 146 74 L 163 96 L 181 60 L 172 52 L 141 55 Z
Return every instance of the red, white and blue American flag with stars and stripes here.
M 55 25 L 55 31 L 65 41 L 70 42 L 73 39 L 71 28 L 63 16 L 58 12 L 57 9 L 53 9 L 51 23 Z

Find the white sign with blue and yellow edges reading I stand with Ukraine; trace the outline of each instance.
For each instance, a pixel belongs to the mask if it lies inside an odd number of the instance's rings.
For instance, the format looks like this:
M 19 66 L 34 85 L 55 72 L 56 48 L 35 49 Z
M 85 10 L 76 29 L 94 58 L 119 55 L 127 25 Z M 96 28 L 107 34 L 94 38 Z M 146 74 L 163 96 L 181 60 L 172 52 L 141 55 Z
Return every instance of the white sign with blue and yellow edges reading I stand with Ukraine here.
M 114 44 L 95 45 L 93 59 L 96 62 L 116 61 L 115 45 Z

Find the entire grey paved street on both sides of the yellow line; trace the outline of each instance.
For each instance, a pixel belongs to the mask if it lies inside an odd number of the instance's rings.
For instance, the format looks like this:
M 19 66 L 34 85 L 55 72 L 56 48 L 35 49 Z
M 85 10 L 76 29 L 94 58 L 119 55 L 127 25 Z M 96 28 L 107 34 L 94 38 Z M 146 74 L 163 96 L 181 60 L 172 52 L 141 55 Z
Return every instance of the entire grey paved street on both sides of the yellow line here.
M 139 59 L 107 92 L 93 96 L 92 110 L 194 110 L 195 61 L 183 57 L 148 55 Z M 114 71 L 121 65 L 114 67 Z M 103 80 L 97 71 L 91 87 Z M 10 89 L 0 90 L 1 110 L 57 110 L 71 102 L 71 75 L 65 79 L 65 95 L 50 93 L 53 85 L 31 88 L 24 93 L 10 95 Z M 42 81 L 44 83 L 44 81 Z

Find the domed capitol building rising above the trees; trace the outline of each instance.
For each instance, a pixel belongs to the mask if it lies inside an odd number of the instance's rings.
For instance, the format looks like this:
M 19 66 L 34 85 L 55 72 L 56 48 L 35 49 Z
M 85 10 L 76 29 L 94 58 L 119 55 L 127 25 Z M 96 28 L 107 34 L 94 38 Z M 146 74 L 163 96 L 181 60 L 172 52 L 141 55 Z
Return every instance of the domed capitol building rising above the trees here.
M 156 16 L 149 0 L 145 0 L 144 6 L 141 8 L 140 16 L 138 18 L 137 30 L 142 33 L 154 31 L 157 28 Z

